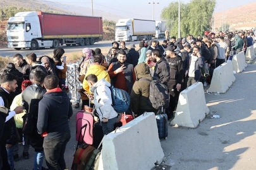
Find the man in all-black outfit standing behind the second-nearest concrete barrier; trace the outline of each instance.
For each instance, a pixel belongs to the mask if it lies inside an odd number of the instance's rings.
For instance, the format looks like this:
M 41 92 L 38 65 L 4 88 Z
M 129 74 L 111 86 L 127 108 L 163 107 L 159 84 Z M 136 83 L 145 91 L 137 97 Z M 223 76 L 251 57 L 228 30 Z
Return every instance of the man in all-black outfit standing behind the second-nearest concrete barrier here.
M 181 89 L 181 82 L 183 80 L 183 62 L 180 55 L 173 52 L 173 47 L 166 48 L 166 60 L 170 66 L 170 79 L 168 81 L 168 90 L 170 94 L 169 108 L 166 109 L 168 119 L 173 117 L 173 111 L 178 104 L 178 98 Z

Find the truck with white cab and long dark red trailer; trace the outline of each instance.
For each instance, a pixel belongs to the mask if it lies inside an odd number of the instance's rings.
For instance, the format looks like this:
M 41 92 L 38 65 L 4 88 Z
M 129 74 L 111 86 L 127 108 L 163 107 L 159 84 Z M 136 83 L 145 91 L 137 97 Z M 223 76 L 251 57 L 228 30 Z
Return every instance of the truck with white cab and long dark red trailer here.
M 102 17 L 28 11 L 16 13 L 6 25 L 8 48 L 58 48 L 93 45 L 102 39 Z

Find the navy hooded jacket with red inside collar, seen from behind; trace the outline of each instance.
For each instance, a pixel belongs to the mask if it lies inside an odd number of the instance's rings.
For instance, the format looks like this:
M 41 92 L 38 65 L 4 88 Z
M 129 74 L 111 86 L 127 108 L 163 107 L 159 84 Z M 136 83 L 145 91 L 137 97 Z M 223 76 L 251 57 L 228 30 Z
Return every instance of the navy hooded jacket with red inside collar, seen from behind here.
M 60 88 L 47 91 L 39 102 L 38 133 L 46 132 L 45 140 L 58 137 L 66 132 L 70 133 L 68 119 L 72 115 L 70 98 L 65 91 Z

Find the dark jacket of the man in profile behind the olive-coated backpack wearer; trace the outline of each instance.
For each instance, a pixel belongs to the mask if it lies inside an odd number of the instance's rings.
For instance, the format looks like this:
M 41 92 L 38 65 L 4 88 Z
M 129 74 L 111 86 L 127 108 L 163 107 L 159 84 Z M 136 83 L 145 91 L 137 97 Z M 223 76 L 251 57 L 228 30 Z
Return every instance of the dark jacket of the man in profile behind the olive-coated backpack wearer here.
M 159 77 L 160 81 L 167 86 L 170 79 L 170 67 L 169 63 L 164 57 L 156 63 L 154 77 Z

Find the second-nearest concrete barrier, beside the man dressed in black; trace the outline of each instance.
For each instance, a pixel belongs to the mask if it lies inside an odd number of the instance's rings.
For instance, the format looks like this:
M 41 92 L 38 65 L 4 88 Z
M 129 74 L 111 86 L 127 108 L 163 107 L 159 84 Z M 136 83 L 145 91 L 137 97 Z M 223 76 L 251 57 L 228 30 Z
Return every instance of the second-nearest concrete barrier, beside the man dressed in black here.
M 181 91 L 171 125 L 196 128 L 208 113 L 209 108 L 206 106 L 203 84 L 197 82 Z

